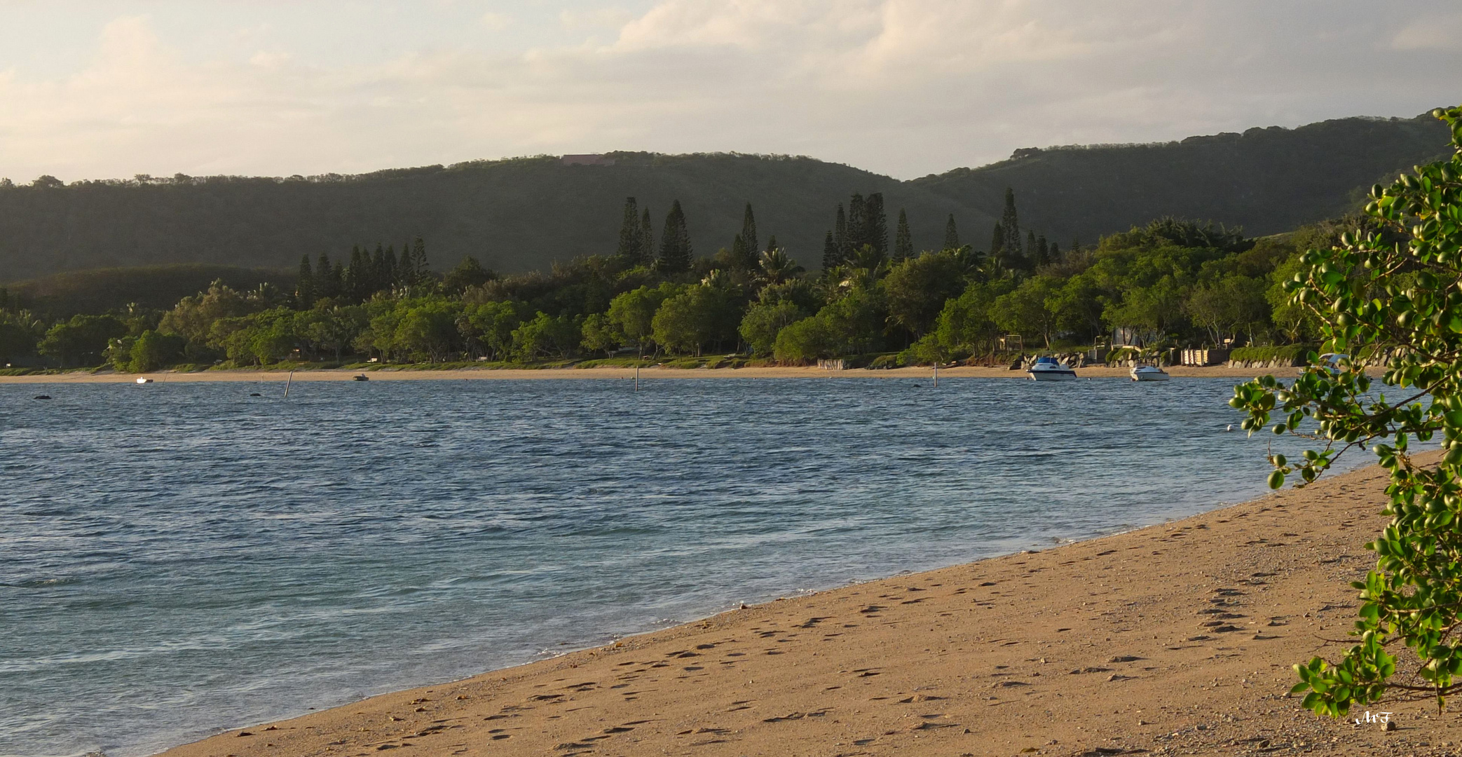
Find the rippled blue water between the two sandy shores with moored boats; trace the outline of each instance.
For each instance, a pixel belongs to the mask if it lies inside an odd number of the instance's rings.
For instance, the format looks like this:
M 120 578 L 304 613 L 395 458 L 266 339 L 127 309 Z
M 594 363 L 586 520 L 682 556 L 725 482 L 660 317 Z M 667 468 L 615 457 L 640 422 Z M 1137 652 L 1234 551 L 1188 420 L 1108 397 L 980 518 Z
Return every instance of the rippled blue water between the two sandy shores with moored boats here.
M 0 384 L 0 754 L 151 754 L 1240 501 L 1266 438 L 1225 431 L 1232 384 Z

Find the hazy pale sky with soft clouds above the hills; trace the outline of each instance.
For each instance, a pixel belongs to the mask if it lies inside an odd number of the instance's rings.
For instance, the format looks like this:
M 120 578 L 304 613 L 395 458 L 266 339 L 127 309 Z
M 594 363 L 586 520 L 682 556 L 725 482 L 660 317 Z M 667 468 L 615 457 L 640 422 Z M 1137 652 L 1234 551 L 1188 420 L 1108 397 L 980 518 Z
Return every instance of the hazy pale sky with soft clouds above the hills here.
M 0 0 L 0 177 L 776 152 L 909 178 L 1462 101 L 1456 0 Z

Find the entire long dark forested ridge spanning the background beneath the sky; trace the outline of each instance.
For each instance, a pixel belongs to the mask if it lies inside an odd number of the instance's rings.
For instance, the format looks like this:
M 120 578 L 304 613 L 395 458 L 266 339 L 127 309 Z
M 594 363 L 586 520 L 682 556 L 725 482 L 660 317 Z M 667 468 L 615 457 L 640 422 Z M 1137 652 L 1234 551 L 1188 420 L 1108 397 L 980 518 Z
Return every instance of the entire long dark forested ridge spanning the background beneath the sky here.
M 817 267 L 836 205 L 883 193 L 890 225 L 908 210 L 914 248 L 936 248 L 953 213 L 984 248 L 1016 191 L 1022 228 L 1095 241 L 1161 215 L 1268 234 L 1348 209 L 1355 190 L 1434 156 L 1430 117 L 1345 118 L 1306 127 L 1190 137 L 1170 145 L 1019 151 L 1000 164 L 898 181 L 811 158 L 610 153 L 614 165 L 558 158 L 480 161 L 354 177 L 37 180 L 0 186 L 0 282 L 61 270 L 162 263 L 291 267 L 301 254 L 427 240 L 434 267 L 472 254 L 503 272 L 610 254 L 624 197 L 659 232 L 684 206 L 697 254 L 728 247 L 751 202 L 763 240 Z

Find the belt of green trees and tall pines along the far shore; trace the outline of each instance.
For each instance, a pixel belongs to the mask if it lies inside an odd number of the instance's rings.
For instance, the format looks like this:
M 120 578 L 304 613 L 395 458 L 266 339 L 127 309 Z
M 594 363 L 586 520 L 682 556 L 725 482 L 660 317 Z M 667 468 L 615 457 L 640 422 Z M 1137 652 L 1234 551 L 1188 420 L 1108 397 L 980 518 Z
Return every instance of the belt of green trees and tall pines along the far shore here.
M 288 278 L 237 288 L 213 282 L 170 308 L 37 317 L 15 297 L 0 317 L 0 358 L 51 365 L 273 365 L 295 362 L 563 362 L 699 358 L 810 364 L 855 357 L 879 367 L 990 361 L 1009 335 L 1026 348 L 1092 345 L 1118 330 L 1146 349 L 1288 345 L 1317 338 L 1287 301 L 1298 250 L 1347 224 L 1260 240 L 1162 218 L 1064 250 L 1020 227 L 1015 193 L 993 224 L 991 250 L 961 244 L 911 253 L 901 221 L 889 238 L 882 193 L 854 194 L 825 218 L 826 267 L 810 275 L 775 237 L 760 241 L 750 205 L 728 247 L 696 256 L 693 219 L 670 203 L 656 237 L 633 197 L 617 251 L 500 276 L 472 257 L 443 275 L 425 243 L 304 256 Z M 898 218 L 906 219 L 899 212 Z M 892 241 L 892 244 L 890 244 Z M 34 362 L 34 360 L 32 360 Z

